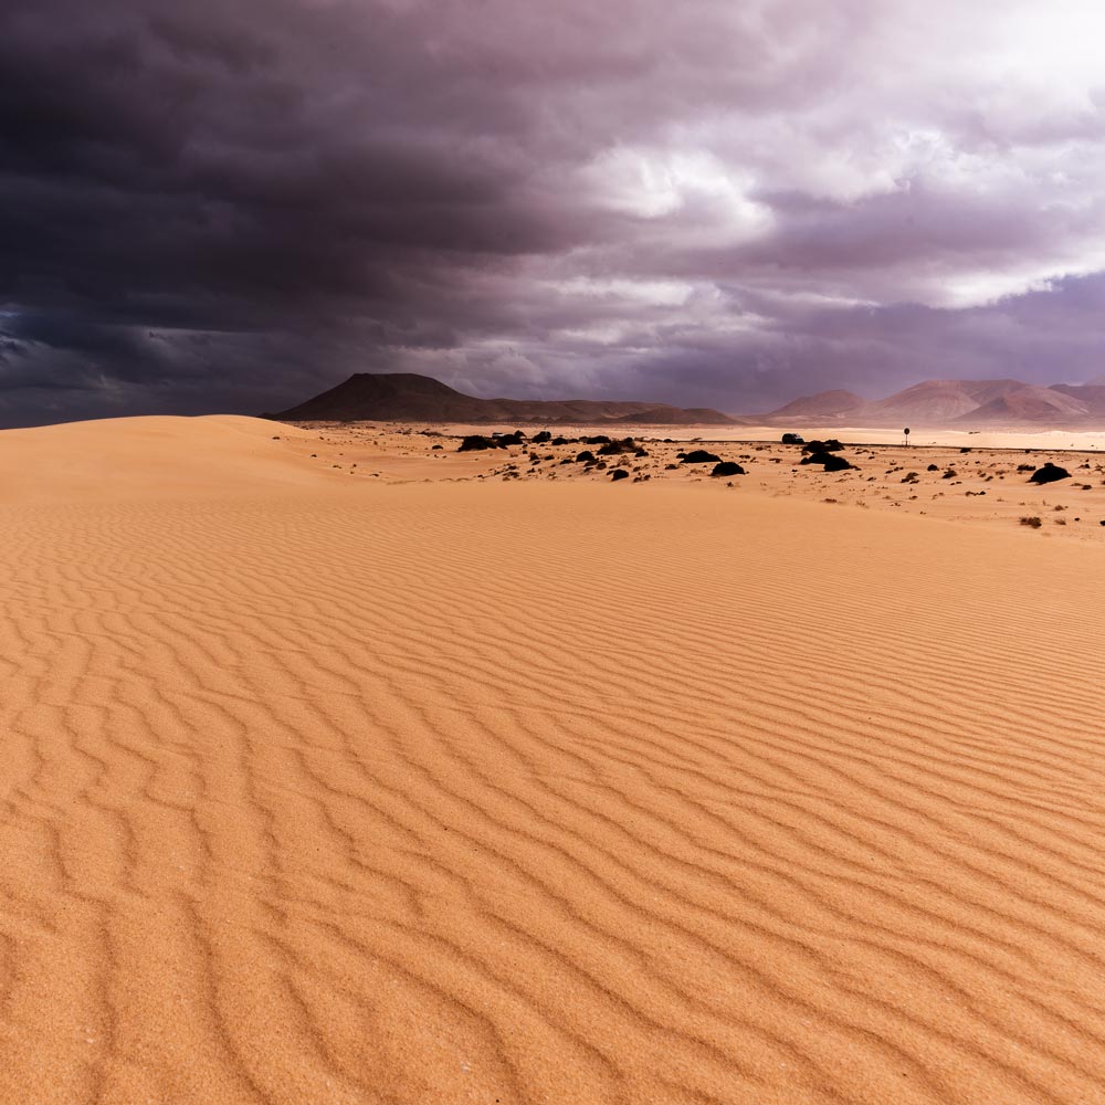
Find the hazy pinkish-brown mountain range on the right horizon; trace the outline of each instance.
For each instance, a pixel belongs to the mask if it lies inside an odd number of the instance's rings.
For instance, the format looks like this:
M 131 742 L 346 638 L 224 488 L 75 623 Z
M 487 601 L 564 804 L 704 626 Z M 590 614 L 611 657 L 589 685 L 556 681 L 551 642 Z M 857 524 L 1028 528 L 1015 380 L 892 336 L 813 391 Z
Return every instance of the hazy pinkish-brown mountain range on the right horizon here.
M 836 404 L 827 397 L 859 401 Z M 836 409 L 834 409 L 836 408 Z M 764 415 L 769 424 L 827 425 L 846 419 L 869 427 L 1105 425 L 1105 385 L 1041 387 L 1020 380 L 925 380 L 886 399 L 848 391 L 796 399 Z

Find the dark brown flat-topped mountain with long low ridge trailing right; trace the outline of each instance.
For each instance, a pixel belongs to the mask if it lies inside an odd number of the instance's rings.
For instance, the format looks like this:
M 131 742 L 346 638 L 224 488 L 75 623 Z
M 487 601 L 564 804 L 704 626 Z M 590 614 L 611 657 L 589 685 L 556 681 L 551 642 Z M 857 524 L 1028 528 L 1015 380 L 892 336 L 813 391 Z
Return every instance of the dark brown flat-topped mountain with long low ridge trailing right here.
M 654 425 L 730 425 L 736 419 L 696 407 L 591 399 L 476 399 L 440 380 L 410 372 L 357 372 L 344 383 L 267 418 L 283 422 L 642 422 Z

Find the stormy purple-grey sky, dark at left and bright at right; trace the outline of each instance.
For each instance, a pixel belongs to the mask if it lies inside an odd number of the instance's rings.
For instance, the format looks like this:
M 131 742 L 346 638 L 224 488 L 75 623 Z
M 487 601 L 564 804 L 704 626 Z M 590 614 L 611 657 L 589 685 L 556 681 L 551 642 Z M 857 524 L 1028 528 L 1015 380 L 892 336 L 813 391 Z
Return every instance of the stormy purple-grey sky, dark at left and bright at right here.
M 1105 375 L 1097 0 L 6 0 L 0 427 Z

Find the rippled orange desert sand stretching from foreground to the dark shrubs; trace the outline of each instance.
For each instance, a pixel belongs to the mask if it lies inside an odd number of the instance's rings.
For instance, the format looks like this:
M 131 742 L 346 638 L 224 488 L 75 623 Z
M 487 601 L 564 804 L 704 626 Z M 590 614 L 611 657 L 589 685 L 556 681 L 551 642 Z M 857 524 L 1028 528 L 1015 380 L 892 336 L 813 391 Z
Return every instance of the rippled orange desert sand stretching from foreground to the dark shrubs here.
M 0 433 L 0 1101 L 1105 1101 L 1101 457 L 455 448 Z

